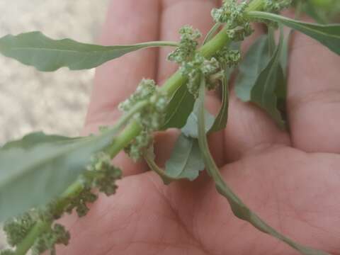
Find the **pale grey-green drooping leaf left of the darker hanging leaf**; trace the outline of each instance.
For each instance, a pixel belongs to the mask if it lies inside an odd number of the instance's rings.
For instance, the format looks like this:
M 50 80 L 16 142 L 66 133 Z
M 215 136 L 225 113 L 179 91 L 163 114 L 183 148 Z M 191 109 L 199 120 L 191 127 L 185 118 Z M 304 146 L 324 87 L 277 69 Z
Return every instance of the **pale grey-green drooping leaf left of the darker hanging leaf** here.
M 244 60 L 239 64 L 235 93 L 244 102 L 251 101 L 251 89 L 270 60 L 268 48 L 268 35 L 262 35 L 251 45 Z

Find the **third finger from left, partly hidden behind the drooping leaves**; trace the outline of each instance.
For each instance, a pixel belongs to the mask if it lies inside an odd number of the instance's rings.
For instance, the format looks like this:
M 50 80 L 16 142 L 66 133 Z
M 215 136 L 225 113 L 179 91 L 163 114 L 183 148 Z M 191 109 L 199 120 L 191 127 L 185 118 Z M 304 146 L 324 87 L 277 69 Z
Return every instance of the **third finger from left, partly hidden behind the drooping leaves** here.
M 263 26 L 253 24 L 254 33 L 242 43 L 242 55 L 265 33 Z M 228 125 L 225 130 L 225 157 L 233 162 L 248 154 L 257 147 L 273 144 L 289 145 L 286 132 L 278 128 L 276 123 L 261 108 L 253 103 L 244 103 L 237 98 L 232 90 L 229 98 Z

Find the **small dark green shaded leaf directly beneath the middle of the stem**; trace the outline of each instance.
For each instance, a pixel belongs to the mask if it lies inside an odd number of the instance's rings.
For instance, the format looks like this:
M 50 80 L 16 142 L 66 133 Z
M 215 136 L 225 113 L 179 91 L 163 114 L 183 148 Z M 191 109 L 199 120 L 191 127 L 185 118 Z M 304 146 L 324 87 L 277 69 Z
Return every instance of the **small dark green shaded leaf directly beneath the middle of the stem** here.
M 195 98 L 186 85 L 180 86 L 171 98 L 166 108 L 165 122 L 162 130 L 167 128 L 182 128 L 186 125 L 188 116 L 193 111 Z

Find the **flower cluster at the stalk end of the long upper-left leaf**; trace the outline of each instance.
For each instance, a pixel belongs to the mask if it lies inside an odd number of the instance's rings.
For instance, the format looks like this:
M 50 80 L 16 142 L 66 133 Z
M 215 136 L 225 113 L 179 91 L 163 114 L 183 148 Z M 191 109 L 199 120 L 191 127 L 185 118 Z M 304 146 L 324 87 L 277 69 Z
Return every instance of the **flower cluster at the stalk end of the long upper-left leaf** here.
M 195 55 L 196 47 L 198 46 L 198 39 L 202 36 L 199 30 L 193 29 L 191 26 L 183 26 L 179 30 L 181 35 L 181 41 L 179 47 L 171 52 L 168 56 L 168 60 L 181 64 L 191 60 L 193 55 Z

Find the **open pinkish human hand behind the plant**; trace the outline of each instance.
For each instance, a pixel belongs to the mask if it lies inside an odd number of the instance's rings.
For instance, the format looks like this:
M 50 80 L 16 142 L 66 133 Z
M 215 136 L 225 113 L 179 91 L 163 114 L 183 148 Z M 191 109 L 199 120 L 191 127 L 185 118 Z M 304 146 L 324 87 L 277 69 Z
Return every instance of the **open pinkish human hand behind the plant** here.
M 103 28 L 104 45 L 147 40 L 177 40 L 179 28 L 192 24 L 206 33 L 210 9 L 218 1 L 113 0 Z M 243 50 L 262 33 L 244 43 Z M 162 84 L 175 65 L 169 49 L 143 50 L 115 60 L 96 72 L 84 133 L 118 118 L 116 106 L 142 77 Z M 288 237 L 340 254 L 340 57 L 305 35 L 294 34 L 288 77 L 290 134 L 265 113 L 232 94 L 229 123 L 210 137 L 210 147 L 225 181 L 249 207 Z M 216 113 L 220 101 L 208 96 Z M 169 157 L 176 137 L 157 135 L 157 157 Z M 118 193 L 100 196 L 86 217 L 64 217 L 72 255 L 290 255 L 286 244 L 238 220 L 206 174 L 191 183 L 164 186 L 145 164 L 120 154 L 115 164 L 125 178 Z

